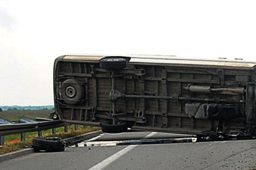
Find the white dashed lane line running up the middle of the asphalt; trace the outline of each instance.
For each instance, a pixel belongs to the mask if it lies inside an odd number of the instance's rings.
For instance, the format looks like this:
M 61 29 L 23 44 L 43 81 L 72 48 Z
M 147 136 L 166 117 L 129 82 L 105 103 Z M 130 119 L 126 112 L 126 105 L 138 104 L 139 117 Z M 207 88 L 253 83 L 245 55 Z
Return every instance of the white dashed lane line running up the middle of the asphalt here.
M 148 134 L 147 136 L 145 136 L 143 139 L 147 139 L 150 138 L 151 136 L 155 135 L 157 132 L 151 132 L 150 134 Z M 119 159 L 121 156 L 123 156 L 124 154 L 126 154 L 127 152 L 129 152 L 130 150 L 132 150 L 133 148 L 135 148 L 137 145 L 129 145 L 127 147 L 125 147 L 124 149 L 122 149 L 121 151 L 118 151 L 116 153 L 114 153 L 113 155 L 111 155 L 110 157 L 106 158 L 105 160 L 101 161 L 100 163 L 94 165 L 93 167 L 91 167 L 88 170 L 93 170 L 93 169 L 98 169 L 101 170 L 105 167 L 107 167 L 109 164 L 111 164 L 112 162 L 114 162 L 115 160 Z

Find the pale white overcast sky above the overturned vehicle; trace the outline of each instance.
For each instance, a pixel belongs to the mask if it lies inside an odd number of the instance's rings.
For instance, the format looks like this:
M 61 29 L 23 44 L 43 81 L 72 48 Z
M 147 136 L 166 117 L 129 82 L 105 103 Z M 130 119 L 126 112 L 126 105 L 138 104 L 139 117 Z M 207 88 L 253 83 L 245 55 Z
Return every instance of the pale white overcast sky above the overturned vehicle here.
M 256 1 L 0 0 L 0 105 L 53 105 L 70 53 L 256 61 Z

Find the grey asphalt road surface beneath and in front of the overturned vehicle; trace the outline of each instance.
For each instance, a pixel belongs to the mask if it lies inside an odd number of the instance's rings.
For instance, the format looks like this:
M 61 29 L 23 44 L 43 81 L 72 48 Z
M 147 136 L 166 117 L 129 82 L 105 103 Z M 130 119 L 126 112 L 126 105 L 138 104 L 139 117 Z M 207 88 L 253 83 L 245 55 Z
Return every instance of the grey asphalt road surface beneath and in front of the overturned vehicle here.
M 189 137 L 156 132 L 104 134 L 92 140 Z M 256 141 L 217 141 L 115 147 L 73 147 L 0 163 L 1 169 L 254 169 Z

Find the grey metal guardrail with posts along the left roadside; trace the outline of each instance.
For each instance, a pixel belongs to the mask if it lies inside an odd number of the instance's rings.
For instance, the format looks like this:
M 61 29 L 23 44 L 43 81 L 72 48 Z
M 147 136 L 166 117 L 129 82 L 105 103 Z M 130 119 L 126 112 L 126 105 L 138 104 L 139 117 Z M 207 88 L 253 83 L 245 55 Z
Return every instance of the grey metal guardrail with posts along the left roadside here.
M 31 119 L 21 116 L 19 120 L 9 121 L 5 118 L 0 118 L 0 145 L 4 145 L 4 136 L 20 133 L 20 140 L 26 140 L 26 132 L 38 131 L 38 136 L 42 137 L 42 130 L 52 129 L 52 134 L 56 134 L 57 127 L 63 127 L 64 131 L 68 132 L 69 123 L 64 123 L 60 120 L 37 117 Z M 85 128 L 86 126 L 84 126 Z M 74 129 L 78 129 L 78 125 L 74 125 Z

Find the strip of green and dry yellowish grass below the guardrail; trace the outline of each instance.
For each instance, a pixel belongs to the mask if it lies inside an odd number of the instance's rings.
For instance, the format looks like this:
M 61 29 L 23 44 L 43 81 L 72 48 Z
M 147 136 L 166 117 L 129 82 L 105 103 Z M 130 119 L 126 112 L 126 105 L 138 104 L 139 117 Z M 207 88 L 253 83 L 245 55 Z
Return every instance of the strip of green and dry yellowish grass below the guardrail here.
M 99 127 L 90 127 L 90 126 L 83 128 L 82 125 L 79 125 L 78 130 L 74 130 L 74 126 L 70 125 L 68 132 L 64 132 L 64 127 L 60 127 L 60 128 L 56 129 L 56 135 L 53 135 L 51 133 L 51 129 L 49 129 L 49 130 L 43 131 L 43 137 L 56 136 L 56 137 L 61 137 L 62 139 L 64 139 L 64 138 L 82 135 L 84 133 L 97 131 L 100 129 L 101 128 L 99 128 Z M 30 146 L 32 144 L 33 138 L 37 137 L 37 132 L 29 132 L 29 133 L 30 133 L 30 135 L 28 135 L 28 136 L 26 134 L 26 141 L 18 141 L 18 142 L 14 142 L 14 143 L 12 143 L 10 141 L 6 141 L 4 143 L 4 146 L 0 147 L 0 155 L 23 149 L 24 146 Z M 35 134 L 33 134 L 33 133 L 35 133 Z M 8 140 L 9 139 L 15 140 L 17 138 L 17 134 L 15 134 L 15 135 L 7 135 L 5 138 L 7 138 Z M 14 136 L 14 137 L 8 137 L 8 136 Z M 18 136 L 19 136 L 18 140 L 20 140 L 20 134 L 18 134 Z

